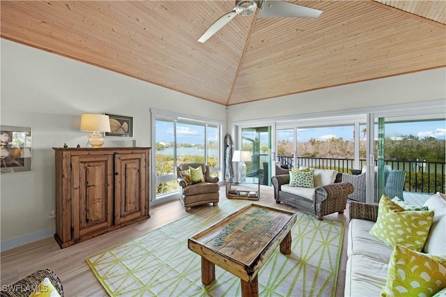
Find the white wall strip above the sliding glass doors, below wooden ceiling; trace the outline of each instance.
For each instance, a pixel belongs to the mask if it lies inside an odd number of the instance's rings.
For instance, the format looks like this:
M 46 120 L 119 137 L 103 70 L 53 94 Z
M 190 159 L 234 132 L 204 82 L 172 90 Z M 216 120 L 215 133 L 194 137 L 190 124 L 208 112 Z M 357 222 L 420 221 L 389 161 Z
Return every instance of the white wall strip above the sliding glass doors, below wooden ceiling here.
M 298 82 L 297 82 L 298 83 Z M 229 107 L 228 128 L 234 122 L 302 114 L 342 112 L 386 105 L 445 100 L 446 68 L 375 79 L 328 89 L 260 100 Z M 445 112 L 438 111 L 438 112 Z

